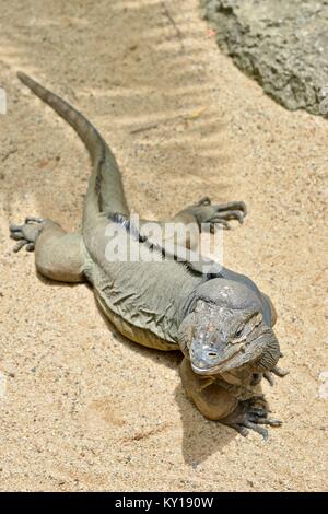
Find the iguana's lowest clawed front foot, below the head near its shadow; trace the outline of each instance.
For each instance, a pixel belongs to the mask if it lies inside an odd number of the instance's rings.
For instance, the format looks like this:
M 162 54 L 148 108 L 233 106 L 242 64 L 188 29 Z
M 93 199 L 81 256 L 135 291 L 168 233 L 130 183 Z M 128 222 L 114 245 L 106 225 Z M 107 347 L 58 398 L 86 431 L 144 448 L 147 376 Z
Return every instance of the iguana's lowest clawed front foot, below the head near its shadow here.
M 267 441 L 269 437 L 268 430 L 261 425 L 281 425 L 281 421 L 269 419 L 268 412 L 268 405 L 263 397 L 254 396 L 249 400 L 239 401 L 235 411 L 220 421 L 235 429 L 239 434 L 244 435 L 244 437 L 248 435 L 249 430 L 254 430 Z

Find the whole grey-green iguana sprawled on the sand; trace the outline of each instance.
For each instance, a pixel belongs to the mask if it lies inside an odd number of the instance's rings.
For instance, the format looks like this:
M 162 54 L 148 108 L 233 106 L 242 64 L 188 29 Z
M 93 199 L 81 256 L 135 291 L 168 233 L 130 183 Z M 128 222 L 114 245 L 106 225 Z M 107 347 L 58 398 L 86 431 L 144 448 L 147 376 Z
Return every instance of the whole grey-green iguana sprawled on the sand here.
M 266 377 L 272 383 L 272 373 L 284 374 L 277 367 L 281 354 L 268 296 L 245 276 L 225 268 L 204 276 L 165 253 L 151 264 L 108 260 L 108 224 L 128 235 L 131 248 L 161 248 L 132 229 L 116 160 L 97 130 L 63 100 L 24 73 L 19 78 L 73 127 L 90 152 L 93 171 L 81 232 L 66 233 L 51 220 L 30 217 L 25 224 L 10 226 L 19 241 L 15 250 L 35 250 L 36 268 L 45 277 L 91 282 L 105 315 L 129 339 L 161 350 L 180 348 L 183 385 L 198 409 L 243 435 L 251 429 L 267 437 L 262 425 L 280 421 L 268 418 L 259 382 Z M 173 221 L 191 222 L 200 231 L 203 222 L 226 226 L 227 220 L 242 222 L 245 214 L 243 202 L 213 206 L 204 198 Z M 177 240 L 176 245 L 190 246 L 191 238 Z

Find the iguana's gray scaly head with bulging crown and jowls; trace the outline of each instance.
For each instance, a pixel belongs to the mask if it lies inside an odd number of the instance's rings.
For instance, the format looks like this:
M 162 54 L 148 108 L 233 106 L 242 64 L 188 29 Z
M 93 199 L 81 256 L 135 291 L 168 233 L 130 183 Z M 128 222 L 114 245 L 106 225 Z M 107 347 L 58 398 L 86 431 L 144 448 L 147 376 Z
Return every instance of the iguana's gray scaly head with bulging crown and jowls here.
M 244 283 L 213 279 L 197 289 L 179 327 L 179 346 L 195 373 L 215 375 L 253 363 L 271 369 L 280 357 L 265 296 Z

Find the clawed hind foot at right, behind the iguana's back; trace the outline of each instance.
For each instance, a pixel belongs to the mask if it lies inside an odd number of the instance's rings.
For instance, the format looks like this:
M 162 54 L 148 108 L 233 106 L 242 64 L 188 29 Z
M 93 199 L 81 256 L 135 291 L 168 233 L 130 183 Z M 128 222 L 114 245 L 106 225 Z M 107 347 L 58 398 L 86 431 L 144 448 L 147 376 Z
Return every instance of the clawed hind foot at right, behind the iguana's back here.
M 231 229 L 229 220 L 237 220 L 239 223 L 243 223 L 247 214 L 244 201 L 231 201 L 212 206 L 209 197 L 204 197 L 199 200 L 197 207 L 202 209 L 201 222 L 209 223 L 211 232 L 214 232 L 218 225 L 221 225 L 222 229 Z

